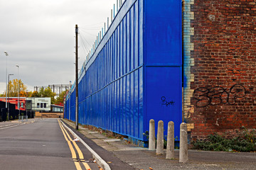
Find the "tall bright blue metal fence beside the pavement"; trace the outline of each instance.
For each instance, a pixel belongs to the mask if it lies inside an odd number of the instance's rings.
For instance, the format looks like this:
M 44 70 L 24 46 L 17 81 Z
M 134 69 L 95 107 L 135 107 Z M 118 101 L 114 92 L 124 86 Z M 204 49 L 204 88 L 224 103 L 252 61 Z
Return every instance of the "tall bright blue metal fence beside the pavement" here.
M 172 120 L 179 136 L 181 70 L 181 1 L 124 1 L 80 74 L 79 123 L 145 140 L 151 118 L 165 130 Z M 74 92 L 65 102 L 73 121 Z

